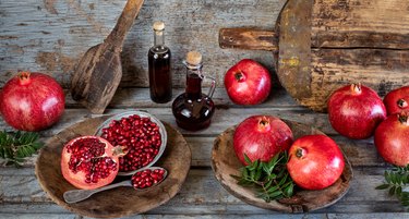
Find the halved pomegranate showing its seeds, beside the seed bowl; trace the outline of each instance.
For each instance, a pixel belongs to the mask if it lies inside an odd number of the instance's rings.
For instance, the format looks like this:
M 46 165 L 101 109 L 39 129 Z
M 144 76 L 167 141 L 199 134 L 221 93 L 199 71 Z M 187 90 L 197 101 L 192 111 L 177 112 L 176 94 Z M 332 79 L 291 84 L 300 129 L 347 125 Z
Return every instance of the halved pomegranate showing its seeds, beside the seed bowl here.
M 67 143 L 61 154 L 61 172 L 77 188 L 93 190 L 113 181 L 119 171 L 120 147 L 97 136 L 81 136 Z

